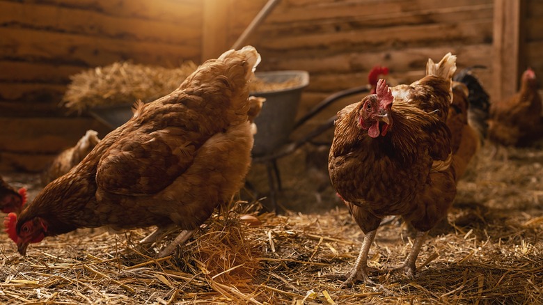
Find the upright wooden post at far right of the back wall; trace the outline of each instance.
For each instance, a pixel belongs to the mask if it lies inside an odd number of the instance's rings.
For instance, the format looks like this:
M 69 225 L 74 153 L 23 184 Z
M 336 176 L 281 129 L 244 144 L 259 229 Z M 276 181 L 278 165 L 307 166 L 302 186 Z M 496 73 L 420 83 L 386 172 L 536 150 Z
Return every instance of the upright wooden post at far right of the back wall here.
M 514 94 L 524 56 L 522 19 L 525 0 L 494 1 L 494 93 L 493 100 Z

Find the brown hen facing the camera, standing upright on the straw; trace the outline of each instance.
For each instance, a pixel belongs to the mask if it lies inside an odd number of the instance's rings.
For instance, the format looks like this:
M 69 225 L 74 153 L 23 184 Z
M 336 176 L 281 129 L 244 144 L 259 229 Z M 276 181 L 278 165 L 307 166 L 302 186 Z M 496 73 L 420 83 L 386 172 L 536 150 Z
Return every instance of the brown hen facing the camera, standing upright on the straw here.
M 338 113 L 329 154 L 329 173 L 365 236 L 359 257 L 344 285 L 368 276 L 368 252 L 386 215 L 401 215 L 416 230 L 416 241 L 401 268 L 414 276 L 427 231 L 446 216 L 456 194 L 451 166 L 450 130 L 456 56 L 447 54 L 411 85 L 368 95 Z M 392 89 L 392 90 L 391 90 Z

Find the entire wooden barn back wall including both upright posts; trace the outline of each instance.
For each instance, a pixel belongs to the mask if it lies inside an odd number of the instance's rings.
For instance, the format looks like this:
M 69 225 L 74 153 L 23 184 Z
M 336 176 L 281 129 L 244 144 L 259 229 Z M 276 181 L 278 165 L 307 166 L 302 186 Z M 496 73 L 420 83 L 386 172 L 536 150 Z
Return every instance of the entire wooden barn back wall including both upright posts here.
M 109 132 L 59 107 L 70 75 L 122 60 L 201 63 L 229 49 L 265 3 L 1 0 L 0 170 L 40 171 L 87 129 Z M 459 68 L 485 65 L 478 76 L 498 99 L 514 92 L 527 65 L 543 74 L 542 16 L 537 0 L 283 0 L 246 43 L 262 54 L 259 71 L 310 73 L 299 114 L 365 84 L 373 65 L 413 81 L 428 57 L 449 51 Z

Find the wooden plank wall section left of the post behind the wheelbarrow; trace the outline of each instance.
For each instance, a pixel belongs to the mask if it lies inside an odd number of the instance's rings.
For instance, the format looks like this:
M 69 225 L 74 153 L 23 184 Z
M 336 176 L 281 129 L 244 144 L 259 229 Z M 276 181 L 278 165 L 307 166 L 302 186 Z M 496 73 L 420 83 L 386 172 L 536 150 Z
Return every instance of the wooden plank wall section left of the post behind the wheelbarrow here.
M 200 60 L 199 0 L 0 0 L 0 170 L 38 171 L 95 120 L 58 107 L 70 75 Z

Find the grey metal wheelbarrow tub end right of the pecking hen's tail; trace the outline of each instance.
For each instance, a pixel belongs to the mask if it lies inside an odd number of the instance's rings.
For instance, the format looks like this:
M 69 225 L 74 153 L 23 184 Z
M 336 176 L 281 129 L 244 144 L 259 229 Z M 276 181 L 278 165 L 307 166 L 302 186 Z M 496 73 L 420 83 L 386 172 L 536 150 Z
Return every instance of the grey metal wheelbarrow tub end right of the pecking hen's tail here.
M 309 84 L 306 71 L 288 70 L 256 72 L 256 77 L 267 83 L 282 83 L 299 79 L 299 85 L 277 91 L 251 92 L 250 95 L 265 97 L 260 115 L 255 118 L 257 132 L 253 155 L 262 156 L 288 143 L 298 111 L 301 91 Z

